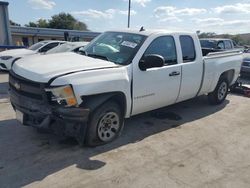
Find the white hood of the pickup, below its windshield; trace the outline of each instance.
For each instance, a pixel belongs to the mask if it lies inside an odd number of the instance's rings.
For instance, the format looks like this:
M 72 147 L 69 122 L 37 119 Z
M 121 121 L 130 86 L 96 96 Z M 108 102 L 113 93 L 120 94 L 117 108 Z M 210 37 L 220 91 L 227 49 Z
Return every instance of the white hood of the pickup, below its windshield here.
M 117 66 L 119 65 L 109 61 L 67 52 L 43 56 L 27 56 L 18 60 L 12 70 L 26 79 L 46 83 L 58 75 Z

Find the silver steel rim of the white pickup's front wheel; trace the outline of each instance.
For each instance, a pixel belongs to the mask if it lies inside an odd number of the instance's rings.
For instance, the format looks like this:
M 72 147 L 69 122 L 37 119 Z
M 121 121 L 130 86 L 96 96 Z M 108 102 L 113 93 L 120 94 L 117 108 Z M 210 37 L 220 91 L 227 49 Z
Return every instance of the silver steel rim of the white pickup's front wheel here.
M 120 120 L 115 112 L 107 112 L 98 123 L 98 137 L 101 141 L 112 140 L 119 131 Z

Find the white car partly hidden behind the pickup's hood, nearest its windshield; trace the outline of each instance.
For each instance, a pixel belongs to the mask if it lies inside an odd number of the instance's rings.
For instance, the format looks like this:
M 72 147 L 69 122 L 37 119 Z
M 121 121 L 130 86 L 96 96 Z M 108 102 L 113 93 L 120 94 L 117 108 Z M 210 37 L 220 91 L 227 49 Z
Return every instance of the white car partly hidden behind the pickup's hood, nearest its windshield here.
M 83 47 L 85 47 L 88 42 L 66 42 L 60 46 L 57 46 L 45 54 L 55 54 L 55 53 L 62 53 L 62 52 L 76 52 L 78 53 Z

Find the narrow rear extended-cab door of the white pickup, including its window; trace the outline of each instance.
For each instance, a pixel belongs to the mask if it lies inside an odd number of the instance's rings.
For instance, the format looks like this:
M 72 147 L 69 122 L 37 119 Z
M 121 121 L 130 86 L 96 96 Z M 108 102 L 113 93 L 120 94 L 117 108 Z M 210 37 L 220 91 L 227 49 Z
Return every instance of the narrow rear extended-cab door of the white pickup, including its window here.
M 194 36 L 180 35 L 182 53 L 182 80 L 178 102 L 197 95 L 203 75 L 203 62 L 200 47 L 194 41 Z M 200 53 L 196 53 L 200 52 Z

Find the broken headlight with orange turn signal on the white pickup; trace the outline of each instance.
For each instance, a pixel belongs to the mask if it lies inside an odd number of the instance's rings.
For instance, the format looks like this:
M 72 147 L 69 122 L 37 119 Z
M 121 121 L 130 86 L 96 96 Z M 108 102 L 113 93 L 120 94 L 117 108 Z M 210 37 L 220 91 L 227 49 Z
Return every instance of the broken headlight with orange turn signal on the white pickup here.
M 52 103 L 57 103 L 66 107 L 76 106 L 77 100 L 70 85 L 59 86 L 46 89 Z

